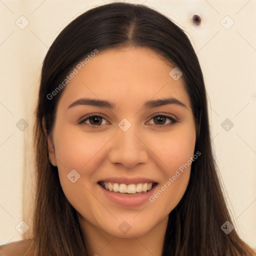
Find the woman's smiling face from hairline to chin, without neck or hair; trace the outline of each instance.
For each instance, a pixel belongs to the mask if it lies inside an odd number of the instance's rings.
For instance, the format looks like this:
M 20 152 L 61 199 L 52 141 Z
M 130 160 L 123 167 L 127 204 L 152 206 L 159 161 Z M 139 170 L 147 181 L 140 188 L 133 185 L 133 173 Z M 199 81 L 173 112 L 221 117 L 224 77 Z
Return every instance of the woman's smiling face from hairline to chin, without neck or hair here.
M 83 65 L 57 105 L 51 162 L 80 223 L 145 234 L 166 221 L 189 180 L 195 125 L 182 76 L 144 47 L 99 51 Z M 167 98 L 184 105 L 157 101 Z

